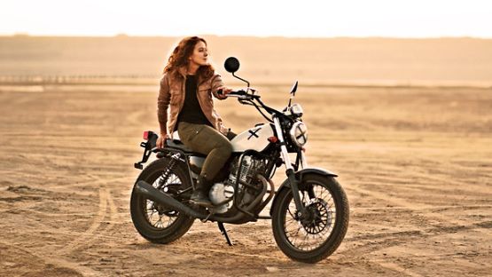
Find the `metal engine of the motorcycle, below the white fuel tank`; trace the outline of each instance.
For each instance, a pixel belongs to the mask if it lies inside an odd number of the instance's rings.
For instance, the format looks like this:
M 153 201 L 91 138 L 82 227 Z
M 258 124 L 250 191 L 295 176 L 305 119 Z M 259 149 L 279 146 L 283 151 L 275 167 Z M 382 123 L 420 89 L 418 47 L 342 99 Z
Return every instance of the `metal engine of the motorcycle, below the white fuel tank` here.
M 230 210 L 233 204 L 234 187 L 238 179 L 238 201 L 241 206 L 253 202 L 262 190 L 262 181 L 256 176 L 258 174 L 265 175 L 267 161 L 256 158 L 254 155 L 245 155 L 241 164 L 239 162 L 241 162 L 240 157 L 231 162 L 229 178 L 224 183 L 214 184 L 210 189 L 210 201 L 214 205 L 221 204 L 213 209 L 215 213 L 224 213 Z

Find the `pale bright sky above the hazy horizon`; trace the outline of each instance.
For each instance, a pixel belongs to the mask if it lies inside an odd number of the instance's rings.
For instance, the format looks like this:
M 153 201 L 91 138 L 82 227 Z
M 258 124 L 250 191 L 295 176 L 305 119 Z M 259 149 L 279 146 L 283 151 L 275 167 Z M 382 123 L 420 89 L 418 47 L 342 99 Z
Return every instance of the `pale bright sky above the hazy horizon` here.
M 1 0 L 0 36 L 492 38 L 492 0 Z

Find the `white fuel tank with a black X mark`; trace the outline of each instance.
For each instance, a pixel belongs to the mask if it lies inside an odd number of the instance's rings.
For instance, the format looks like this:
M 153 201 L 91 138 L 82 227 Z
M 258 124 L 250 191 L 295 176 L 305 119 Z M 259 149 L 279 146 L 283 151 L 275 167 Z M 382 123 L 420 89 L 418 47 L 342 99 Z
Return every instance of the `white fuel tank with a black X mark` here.
M 258 152 L 269 146 L 269 137 L 273 136 L 271 124 L 262 124 L 238 134 L 230 140 L 232 152 L 244 152 L 253 149 Z

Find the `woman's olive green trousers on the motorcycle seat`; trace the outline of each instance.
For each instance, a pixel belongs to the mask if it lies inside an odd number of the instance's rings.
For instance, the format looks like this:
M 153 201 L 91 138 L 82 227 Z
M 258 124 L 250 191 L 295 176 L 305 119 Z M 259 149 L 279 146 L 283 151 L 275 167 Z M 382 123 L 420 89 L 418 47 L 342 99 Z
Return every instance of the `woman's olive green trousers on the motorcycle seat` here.
M 177 127 L 183 144 L 194 152 L 206 154 L 200 175 L 212 180 L 232 153 L 232 145 L 219 131 L 205 124 L 180 122 Z

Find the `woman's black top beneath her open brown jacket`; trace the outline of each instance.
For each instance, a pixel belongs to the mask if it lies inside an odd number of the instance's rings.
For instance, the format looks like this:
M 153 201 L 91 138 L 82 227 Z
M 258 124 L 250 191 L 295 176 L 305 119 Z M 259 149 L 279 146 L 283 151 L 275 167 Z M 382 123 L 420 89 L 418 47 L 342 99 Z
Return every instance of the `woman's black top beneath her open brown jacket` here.
M 180 122 L 193 123 L 193 124 L 206 124 L 210 127 L 214 127 L 207 119 L 207 116 L 203 114 L 201 107 L 199 106 L 198 93 L 198 80 L 196 75 L 186 75 L 184 95 L 184 105 L 181 112 L 177 116 L 177 125 Z

